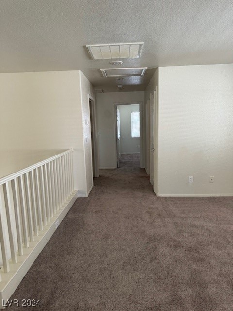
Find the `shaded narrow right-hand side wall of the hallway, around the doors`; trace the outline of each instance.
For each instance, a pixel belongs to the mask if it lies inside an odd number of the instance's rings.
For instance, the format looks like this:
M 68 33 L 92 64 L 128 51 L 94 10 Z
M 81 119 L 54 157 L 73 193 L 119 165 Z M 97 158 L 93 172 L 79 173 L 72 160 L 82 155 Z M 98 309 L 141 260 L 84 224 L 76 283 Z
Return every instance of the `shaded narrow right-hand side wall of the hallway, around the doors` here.
M 148 174 L 150 174 L 150 94 L 156 90 L 156 86 L 158 86 L 158 69 L 156 69 L 154 75 L 150 79 L 149 84 L 145 89 L 145 170 Z M 155 135 L 157 135 L 155 133 Z M 155 154 L 156 156 L 156 154 Z

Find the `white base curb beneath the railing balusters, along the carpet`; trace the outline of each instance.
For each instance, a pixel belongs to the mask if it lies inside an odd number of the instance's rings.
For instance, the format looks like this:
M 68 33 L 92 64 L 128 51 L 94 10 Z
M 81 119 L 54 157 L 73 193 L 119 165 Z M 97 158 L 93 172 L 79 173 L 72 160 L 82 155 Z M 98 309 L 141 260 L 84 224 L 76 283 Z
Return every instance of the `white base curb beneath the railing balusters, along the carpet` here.
M 10 263 L 10 272 L 2 273 L 2 281 L 0 282 L 0 309 L 4 309 L 3 300 L 7 301 L 10 296 L 15 292 L 19 283 L 31 268 L 33 262 L 43 250 L 47 242 L 50 240 L 53 233 L 56 231 L 56 221 L 59 220 L 59 224 L 62 222 L 67 212 L 70 210 L 77 198 L 77 190 L 70 195 L 68 200 L 61 207 L 61 211 L 56 213 L 51 219 L 50 223 L 39 233 L 39 236 L 34 237 L 34 242 L 30 242 L 29 248 L 24 248 L 24 254 L 18 256 L 18 262 L 16 264 Z

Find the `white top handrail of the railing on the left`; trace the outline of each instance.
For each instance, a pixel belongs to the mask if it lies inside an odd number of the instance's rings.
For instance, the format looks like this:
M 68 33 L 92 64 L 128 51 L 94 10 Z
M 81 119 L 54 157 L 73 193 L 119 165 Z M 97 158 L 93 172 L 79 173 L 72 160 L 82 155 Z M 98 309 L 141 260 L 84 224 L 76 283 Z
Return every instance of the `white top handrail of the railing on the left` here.
M 68 150 L 66 150 L 64 152 L 61 152 L 61 153 L 57 154 L 57 155 L 53 155 L 53 156 L 49 157 L 48 159 L 45 159 L 45 160 L 37 162 L 37 163 L 35 163 L 33 165 L 30 165 L 30 166 L 26 167 L 25 169 L 22 169 L 22 170 L 19 170 L 19 171 L 15 172 L 15 173 L 12 173 L 12 174 L 9 174 L 7 176 L 4 176 L 4 177 L 0 178 L 0 185 L 5 184 L 8 181 L 11 181 L 12 179 L 17 178 L 17 177 L 19 177 L 19 176 L 21 176 L 21 175 L 23 175 L 23 174 L 25 174 L 27 172 L 33 171 L 37 167 L 40 167 L 40 166 L 42 166 L 42 165 L 44 165 L 46 163 L 49 163 L 49 162 L 51 162 L 51 161 L 53 161 L 53 160 L 55 160 L 55 159 L 57 159 L 57 158 L 59 158 L 59 157 L 61 157 L 63 155 L 69 154 L 72 151 L 73 151 L 73 149 L 68 149 Z

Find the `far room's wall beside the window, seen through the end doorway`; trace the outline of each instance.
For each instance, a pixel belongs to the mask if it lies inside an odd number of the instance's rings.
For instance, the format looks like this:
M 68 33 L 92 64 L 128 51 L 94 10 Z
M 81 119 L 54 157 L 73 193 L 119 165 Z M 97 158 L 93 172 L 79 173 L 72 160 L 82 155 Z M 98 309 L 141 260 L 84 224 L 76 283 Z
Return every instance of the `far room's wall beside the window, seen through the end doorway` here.
M 140 111 L 140 105 L 118 105 L 120 110 L 121 153 L 140 153 L 140 137 L 131 137 L 131 112 Z

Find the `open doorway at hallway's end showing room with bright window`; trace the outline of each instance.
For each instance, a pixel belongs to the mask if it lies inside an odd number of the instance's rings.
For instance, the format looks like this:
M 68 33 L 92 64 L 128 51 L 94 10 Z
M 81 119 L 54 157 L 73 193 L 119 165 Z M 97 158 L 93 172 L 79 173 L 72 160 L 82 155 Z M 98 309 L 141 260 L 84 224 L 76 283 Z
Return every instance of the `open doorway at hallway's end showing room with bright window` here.
M 140 167 L 142 126 L 140 103 L 116 104 L 116 162 L 132 161 Z

